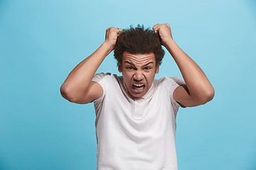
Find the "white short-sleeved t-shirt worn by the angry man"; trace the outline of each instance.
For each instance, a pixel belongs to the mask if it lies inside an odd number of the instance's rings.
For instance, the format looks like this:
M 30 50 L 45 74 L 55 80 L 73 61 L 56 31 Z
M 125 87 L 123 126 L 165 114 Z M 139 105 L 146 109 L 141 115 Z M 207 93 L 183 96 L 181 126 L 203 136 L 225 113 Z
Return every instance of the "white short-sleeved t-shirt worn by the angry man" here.
M 178 169 L 175 132 L 178 77 L 154 80 L 140 99 L 129 98 L 122 77 L 95 74 L 103 95 L 94 102 L 97 170 Z

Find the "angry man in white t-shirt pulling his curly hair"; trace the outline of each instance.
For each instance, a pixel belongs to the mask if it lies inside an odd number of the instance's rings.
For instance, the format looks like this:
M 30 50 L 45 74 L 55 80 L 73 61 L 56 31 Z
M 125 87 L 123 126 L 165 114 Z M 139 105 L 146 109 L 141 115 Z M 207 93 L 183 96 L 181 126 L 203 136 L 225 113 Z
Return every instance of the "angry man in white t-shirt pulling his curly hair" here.
M 164 45 L 183 79 L 154 79 Z M 118 70 L 95 74 L 114 50 Z M 105 42 L 68 75 L 60 92 L 74 103 L 95 103 L 97 169 L 178 169 L 175 132 L 178 107 L 199 106 L 214 96 L 206 75 L 171 36 L 169 24 L 107 28 Z

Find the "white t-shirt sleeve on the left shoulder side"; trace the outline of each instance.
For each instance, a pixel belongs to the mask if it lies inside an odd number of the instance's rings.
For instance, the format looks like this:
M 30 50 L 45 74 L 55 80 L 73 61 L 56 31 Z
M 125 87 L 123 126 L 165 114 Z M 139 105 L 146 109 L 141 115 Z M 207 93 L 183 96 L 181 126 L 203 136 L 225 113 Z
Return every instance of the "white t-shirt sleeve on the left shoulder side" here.
M 108 87 L 108 84 L 107 84 L 107 76 L 109 76 L 110 74 L 105 74 L 105 73 L 99 73 L 99 74 L 95 74 L 93 77 L 92 77 L 92 81 L 95 81 L 97 82 L 98 84 L 100 84 L 100 86 L 102 86 L 102 89 L 103 89 L 103 95 L 100 97 L 100 98 L 97 98 L 95 99 L 93 102 L 95 103 L 98 103 L 100 101 L 103 100 L 103 98 L 105 98 L 105 95 L 107 93 L 107 87 Z

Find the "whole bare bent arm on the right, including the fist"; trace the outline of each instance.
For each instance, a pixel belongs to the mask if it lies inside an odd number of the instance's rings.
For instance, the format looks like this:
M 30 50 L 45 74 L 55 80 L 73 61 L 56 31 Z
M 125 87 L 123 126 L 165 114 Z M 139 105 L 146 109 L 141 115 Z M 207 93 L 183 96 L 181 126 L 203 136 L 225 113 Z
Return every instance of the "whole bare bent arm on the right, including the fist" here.
M 171 36 L 169 24 L 156 24 L 153 30 L 155 33 L 159 33 L 162 44 L 174 58 L 186 82 L 185 88 L 178 86 L 175 89 L 174 100 L 188 107 L 202 105 L 212 100 L 215 93 L 213 86 L 198 64 L 176 45 Z

